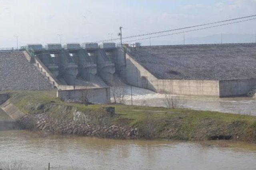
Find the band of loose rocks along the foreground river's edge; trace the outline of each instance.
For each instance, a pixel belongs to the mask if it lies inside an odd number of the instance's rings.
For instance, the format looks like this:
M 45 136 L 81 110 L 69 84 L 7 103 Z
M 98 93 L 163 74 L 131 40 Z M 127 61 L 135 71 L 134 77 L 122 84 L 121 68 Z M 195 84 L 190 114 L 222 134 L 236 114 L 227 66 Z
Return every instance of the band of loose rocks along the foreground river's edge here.
M 137 137 L 138 131 L 132 127 L 117 125 L 101 126 L 77 123 L 75 120 L 54 119 L 46 114 L 26 115 L 20 119 L 25 129 L 38 129 L 59 134 L 77 134 L 96 137 L 127 138 Z

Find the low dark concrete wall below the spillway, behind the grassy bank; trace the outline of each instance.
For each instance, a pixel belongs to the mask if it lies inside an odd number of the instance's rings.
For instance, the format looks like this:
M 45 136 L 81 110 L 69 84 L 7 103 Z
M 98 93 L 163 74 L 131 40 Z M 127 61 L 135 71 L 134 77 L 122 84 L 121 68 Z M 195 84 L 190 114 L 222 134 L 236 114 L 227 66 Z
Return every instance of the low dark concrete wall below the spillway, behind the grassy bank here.
M 92 88 L 92 89 L 77 89 L 77 90 L 58 90 L 57 97 L 62 100 L 80 100 L 82 91 L 88 92 L 89 102 L 109 104 L 110 103 L 110 88 Z

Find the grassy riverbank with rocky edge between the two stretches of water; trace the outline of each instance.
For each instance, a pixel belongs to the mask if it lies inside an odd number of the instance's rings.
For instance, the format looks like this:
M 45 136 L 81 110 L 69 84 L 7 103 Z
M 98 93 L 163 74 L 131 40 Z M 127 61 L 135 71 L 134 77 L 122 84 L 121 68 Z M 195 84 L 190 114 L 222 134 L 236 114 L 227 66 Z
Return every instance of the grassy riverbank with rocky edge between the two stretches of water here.
M 62 102 L 55 92 L 12 92 L 10 102 L 26 115 L 26 129 L 51 133 L 110 138 L 178 139 L 189 141 L 232 139 L 256 142 L 256 117 L 190 109 L 118 106 Z

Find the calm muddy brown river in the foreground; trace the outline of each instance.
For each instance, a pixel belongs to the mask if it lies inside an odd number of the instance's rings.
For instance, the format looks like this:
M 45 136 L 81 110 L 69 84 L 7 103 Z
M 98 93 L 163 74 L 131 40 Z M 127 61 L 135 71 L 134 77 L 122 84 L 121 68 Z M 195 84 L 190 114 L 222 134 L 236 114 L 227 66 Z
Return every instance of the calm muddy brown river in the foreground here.
M 256 144 L 230 141 L 113 140 L 0 131 L 0 162 L 27 167 L 95 170 L 253 170 Z

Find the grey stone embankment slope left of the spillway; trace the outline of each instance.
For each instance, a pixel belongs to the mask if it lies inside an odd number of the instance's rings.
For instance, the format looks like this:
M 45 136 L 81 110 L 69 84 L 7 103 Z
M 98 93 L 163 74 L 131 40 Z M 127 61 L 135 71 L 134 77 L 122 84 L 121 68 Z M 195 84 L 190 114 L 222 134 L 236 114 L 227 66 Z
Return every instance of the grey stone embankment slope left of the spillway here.
M 53 85 L 22 51 L 0 52 L 0 90 L 50 90 Z

